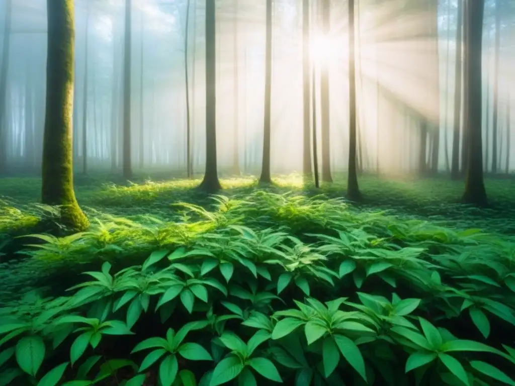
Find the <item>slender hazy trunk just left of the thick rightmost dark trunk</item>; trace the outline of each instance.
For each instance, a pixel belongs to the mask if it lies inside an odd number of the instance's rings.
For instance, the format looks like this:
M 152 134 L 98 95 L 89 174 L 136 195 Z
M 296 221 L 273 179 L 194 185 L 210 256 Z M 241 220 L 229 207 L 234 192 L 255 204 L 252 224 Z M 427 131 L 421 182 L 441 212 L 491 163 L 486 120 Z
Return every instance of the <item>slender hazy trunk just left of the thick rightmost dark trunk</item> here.
M 464 0 L 458 0 L 458 17 L 456 22 L 456 60 L 454 67 L 454 125 L 453 125 L 453 139 L 452 139 L 452 160 L 451 160 L 451 179 L 457 180 L 459 178 L 459 137 L 461 126 L 461 68 L 462 60 L 461 55 L 463 52 L 462 32 L 463 32 L 463 15 L 464 15 Z

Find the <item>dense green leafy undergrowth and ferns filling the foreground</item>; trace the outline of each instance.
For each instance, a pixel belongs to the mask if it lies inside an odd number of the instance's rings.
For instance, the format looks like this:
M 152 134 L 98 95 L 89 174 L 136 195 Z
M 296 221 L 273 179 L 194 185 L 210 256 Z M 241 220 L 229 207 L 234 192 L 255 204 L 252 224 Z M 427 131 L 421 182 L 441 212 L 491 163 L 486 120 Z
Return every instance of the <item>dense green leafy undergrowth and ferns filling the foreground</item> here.
M 0 267 L 0 385 L 515 385 L 509 210 L 229 183 L 90 189 L 68 236 L 7 225 L 26 247 Z

